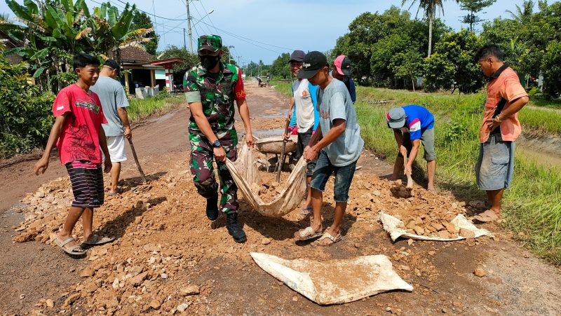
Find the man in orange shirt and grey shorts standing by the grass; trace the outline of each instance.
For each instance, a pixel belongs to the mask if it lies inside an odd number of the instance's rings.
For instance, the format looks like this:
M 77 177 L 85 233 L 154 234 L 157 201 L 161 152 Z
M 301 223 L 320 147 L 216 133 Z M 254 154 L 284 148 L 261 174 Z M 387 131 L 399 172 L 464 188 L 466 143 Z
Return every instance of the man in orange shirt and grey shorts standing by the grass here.
M 498 45 L 483 46 L 475 57 L 490 80 L 479 130 L 479 158 L 475 164 L 478 186 L 487 191 L 490 207 L 474 219 L 488 222 L 499 219 L 504 189 L 513 179 L 515 142 L 522 132 L 518 111 L 528 103 L 528 94 L 520 85 L 518 75 L 503 63 L 503 52 Z

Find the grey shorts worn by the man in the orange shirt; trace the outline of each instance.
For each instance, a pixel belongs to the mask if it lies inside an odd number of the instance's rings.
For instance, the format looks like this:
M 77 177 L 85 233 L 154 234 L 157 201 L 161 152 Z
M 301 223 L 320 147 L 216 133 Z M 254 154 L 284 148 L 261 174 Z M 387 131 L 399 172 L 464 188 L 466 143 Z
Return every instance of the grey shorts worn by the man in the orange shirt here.
M 490 135 L 479 145 L 475 178 L 484 191 L 508 188 L 513 181 L 515 142 L 503 142 L 500 134 Z

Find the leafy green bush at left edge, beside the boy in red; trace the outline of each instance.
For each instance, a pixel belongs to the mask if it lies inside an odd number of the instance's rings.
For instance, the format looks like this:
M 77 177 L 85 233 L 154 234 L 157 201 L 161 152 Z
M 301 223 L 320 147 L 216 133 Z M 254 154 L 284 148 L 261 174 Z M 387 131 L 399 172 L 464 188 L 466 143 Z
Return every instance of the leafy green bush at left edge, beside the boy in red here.
M 27 83 L 25 64 L 9 64 L 0 55 L 0 158 L 45 144 L 53 100 L 54 95 Z

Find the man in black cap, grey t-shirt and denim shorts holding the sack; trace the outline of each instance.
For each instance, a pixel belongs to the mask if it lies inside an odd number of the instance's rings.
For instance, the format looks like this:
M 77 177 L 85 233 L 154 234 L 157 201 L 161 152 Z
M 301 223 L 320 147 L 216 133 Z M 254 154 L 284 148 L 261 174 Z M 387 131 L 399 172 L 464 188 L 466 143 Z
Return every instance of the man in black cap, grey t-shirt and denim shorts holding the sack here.
M 330 246 L 342 239 L 341 224 L 349 200 L 349 188 L 364 142 L 360 137 L 360 127 L 349 90 L 344 83 L 330 76 L 327 57 L 323 53 L 307 53 L 298 78 L 308 79 L 310 83 L 320 87 L 320 123 L 304 149 L 306 160 L 317 159 L 311 178 L 313 219 L 309 227 L 295 233 L 295 238 L 319 238 L 312 245 Z M 335 175 L 335 214 L 333 224 L 324 232 L 321 222 L 323 191 L 331 174 Z

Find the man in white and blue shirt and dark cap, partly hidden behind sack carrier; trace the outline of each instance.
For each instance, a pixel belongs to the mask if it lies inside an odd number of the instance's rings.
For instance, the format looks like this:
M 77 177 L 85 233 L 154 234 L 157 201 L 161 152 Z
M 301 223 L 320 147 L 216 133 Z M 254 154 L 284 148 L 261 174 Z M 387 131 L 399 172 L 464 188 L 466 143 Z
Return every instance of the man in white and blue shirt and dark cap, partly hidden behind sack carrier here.
M 290 54 L 290 71 L 292 76 L 297 77 L 302 70 L 302 62 L 306 53 L 302 50 L 295 50 Z M 318 111 L 317 85 L 309 83 L 308 79 L 296 78 L 292 83 L 292 98 L 290 99 L 288 109 L 288 119 L 294 121 L 297 130 L 298 142 L 297 150 L 294 158 L 299 160 L 304 154 L 304 148 L 308 146 L 311 136 L 320 123 L 320 114 Z M 289 130 L 285 135 L 285 141 L 288 141 L 292 132 Z M 316 167 L 316 160 L 310 161 L 306 167 L 306 184 L 308 186 L 306 194 L 306 206 L 302 209 L 302 214 L 311 213 L 311 190 L 310 182 L 313 168 Z

